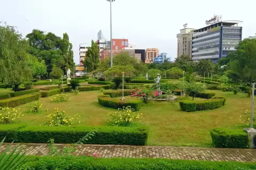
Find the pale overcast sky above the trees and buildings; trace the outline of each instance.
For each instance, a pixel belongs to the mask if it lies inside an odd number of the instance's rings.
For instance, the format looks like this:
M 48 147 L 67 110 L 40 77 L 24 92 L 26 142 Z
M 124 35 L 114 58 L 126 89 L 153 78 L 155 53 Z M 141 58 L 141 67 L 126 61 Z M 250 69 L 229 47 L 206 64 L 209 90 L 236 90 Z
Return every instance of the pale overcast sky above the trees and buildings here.
M 176 34 L 183 24 L 205 26 L 205 20 L 222 14 L 225 20 L 243 22 L 242 38 L 256 33 L 254 0 L 116 0 L 112 3 L 112 38 L 129 39 L 138 49 L 159 48 L 172 60 L 177 55 Z M 32 29 L 69 35 L 74 61 L 79 44 L 97 39 L 102 30 L 110 39 L 110 2 L 106 0 L 0 0 L 0 21 L 17 26 L 25 37 Z

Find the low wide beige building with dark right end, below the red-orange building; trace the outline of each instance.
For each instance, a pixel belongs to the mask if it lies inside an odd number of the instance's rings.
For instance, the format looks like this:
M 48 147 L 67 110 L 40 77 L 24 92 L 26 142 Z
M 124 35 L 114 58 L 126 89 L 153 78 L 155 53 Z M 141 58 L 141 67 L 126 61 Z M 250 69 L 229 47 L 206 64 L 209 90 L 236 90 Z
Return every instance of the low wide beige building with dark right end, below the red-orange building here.
M 123 50 L 112 50 L 113 56 L 122 53 L 128 52 L 130 56 L 135 57 L 138 61 L 145 62 L 145 50 L 144 49 L 123 49 Z M 110 56 L 111 51 L 108 49 L 104 49 L 101 52 L 100 60 L 102 61 L 104 58 Z

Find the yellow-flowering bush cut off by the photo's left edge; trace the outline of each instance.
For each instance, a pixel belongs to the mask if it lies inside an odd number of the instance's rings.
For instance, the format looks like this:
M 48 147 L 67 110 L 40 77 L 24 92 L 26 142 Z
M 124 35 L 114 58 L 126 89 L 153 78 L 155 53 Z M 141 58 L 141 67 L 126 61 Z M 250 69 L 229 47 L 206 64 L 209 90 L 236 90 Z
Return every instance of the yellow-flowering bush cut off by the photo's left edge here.
M 22 113 L 17 113 L 18 110 L 15 108 L 9 108 L 9 107 L 0 108 L 0 123 L 1 124 L 11 123 L 12 121 L 17 120 L 21 116 L 24 116 L 24 114 Z

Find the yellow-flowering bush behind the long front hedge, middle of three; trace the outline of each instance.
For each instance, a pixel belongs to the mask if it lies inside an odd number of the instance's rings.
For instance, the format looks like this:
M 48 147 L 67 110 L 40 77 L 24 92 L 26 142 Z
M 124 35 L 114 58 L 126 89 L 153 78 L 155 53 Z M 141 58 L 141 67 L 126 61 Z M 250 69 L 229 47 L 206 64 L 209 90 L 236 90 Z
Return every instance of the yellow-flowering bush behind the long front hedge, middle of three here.
M 48 114 L 45 118 L 48 119 L 48 126 L 71 126 L 74 120 L 78 118 L 73 118 L 72 116 L 64 115 L 65 111 L 59 111 L 58 108 L 54 109 L 54 113 Z M 77 113 L 76 117 L 80 117 Z M 80 123 L 80 121 L 78 122 Z

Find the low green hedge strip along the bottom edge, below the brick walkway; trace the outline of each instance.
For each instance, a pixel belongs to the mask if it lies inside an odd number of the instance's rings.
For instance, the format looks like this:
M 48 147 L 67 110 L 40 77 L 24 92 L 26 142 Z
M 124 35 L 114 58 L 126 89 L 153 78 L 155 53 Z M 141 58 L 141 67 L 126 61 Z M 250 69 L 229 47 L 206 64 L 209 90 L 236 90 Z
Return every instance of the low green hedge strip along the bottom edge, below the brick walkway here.
M 56 165 L 57 162 L 57 165 Z M 256 163 L 93 156 L 28 156 L 21 170 L 253 170 Z

